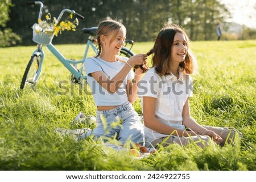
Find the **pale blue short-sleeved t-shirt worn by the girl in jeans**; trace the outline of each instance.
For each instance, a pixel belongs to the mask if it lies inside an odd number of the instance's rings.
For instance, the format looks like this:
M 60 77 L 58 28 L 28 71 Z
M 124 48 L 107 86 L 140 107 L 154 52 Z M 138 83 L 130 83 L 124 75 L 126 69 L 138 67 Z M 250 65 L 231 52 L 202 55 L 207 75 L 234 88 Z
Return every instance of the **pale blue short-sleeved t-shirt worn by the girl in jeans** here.
M 119 60 L 127 61 L 125 57 L 119 57 Z M 105 88 L 101 87 L 100 84 L 90 75 L 96 71 L 102 71 L 106 74 L 109 79 L 112 79 L 121 69 L 125 66 L 125 63 L 122 61 L 116 62 L 107 62 L 102 60 L 100 57 L 94 58 L 89 57 L 85 60 L 85 71 L 88 75 L 87 82 L 92 90 L 94 102 L 96 107 L 98 105 L 121 105 L 125 103 L 127 98 L 126 93 L 126 84 L 127 81 L 134 78 L 134 72 L 131 70 L 126 76 L 125 80 L 122 82 L 118 90 L 111 94 Z

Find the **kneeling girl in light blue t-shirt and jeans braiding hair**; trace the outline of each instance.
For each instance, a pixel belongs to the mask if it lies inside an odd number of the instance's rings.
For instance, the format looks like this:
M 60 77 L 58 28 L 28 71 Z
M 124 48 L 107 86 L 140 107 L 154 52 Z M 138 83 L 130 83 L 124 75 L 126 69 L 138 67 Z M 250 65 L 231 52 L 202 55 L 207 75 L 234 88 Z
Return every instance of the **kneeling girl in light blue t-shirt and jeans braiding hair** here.
M 129 60 L 120 57 L 119 52 L 125 39 L 126 28 L 123 24 L 111 19 L 99 24 L 98 55 L 85 60 L 88 83 L 97 107 L 97 127 L 87 132 L 87 136 L 93 134 L 96 138 L 103 137 L 104 140 L 116 137 L 122 145 L 130 139 L 144 145 L 141 118 L 132 105 L 137 99 L 137 83 L 144 70 L 139 67 L 134 75 L 132 69 L 135 65 L 143 65 L 147 69 L 147 54 L 137 54 Z M 106 123 L 102 121 L 102 116 Z M 121 125 L 114 124 L 118 120 Z

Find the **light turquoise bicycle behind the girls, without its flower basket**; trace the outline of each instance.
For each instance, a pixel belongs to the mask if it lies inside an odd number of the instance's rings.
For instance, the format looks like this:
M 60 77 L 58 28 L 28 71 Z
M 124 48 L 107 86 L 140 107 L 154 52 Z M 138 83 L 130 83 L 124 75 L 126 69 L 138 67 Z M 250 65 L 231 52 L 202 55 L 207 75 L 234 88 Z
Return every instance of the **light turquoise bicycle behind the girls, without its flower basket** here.
M 30 2 L 28 3 L 28 5 L 40 5 L 40 11 L 39 11 L 39 19 L 42 16 L 42 9 L 43 9 L 43 3 L 36 1 L 36 2 Z M 84 17 L 81 16 L 80 14 L 77 14 L 74 10 L 68 10 L 68 9 L 64 9 L 60 12 L 59 17 L 57 18 L 57 22 L 60 21 L 61 17 L 63 16 L 64 12 L 69 12 L 72 14 L 75 14 L 76 16 L 78 16 L 79 18 L 83 19 Z M 85 48 L 85 52 L 84 52 L 84 56 L 82 58 L 82 60 L 70 60 L 67 59 L 63 56 L 63 54 L 61 54 L 59 52 L 59 50 L 57 50 L 57 48 L 52 44 L 46 44 L 45 46 L 49 49 L 49 51 L 57 58 L 57 60 L 59 60 L 61 62 L 61 64 L 63 64 L 65 67 L 67 67 L 67 69 L 70 71 L 71 73 L 71 81 L 73 83 L 79 83 L 82 86 L 82 80 L 86 80 L 87 79 L 87 75 L 82 75 L 83 73 L 83 69 L 84 69 L 84 62 L 86 57 L 88 56 L 88 52 L 89 49 L 92 49 L 93 52 L 95 53 L 95 55 L 98 53 L 98 48 L 97 45 L 95 45 L 95 39 L 94 39 L 94 34 L 95 31 L 97 29 L 95 29 L 97 27 L 92 27 L 92 28 L 84 28 L 82 30 L 82 33 L 89 33 L 89 37 L 86 43 L 86 48 Z M 131 47 L 133 46 L 134 41 L 133 40 L 126 40 L 126 44 L 129 43 L 131 44 Z M 125 46 L 126 46 L 125 44 Z M 38 78 L 40 76 L 40 73 L 42 71 L 42 65 L 43 65 L 43 61 L 44 61 L 44 51 L 43 51 L 43 46 L 40 43 L 37 44 L 37 49 L 32 53 L 31 56 L 31 60 L 28 62 L 28 65 L 26 67 L 26 70 L 24 71 L 24 75 L 22 78 L 22 82 L 20 84 L 20 89 L 23 89 L 26 83 L 30 83 L 32 84 L 32 86 L 35 86 L 36 82 L 38 81 Z M 133 52 L 131 52 L 131 47 L 130 49 L 126 48 L 125 46 L 122 47 L 120 54 L 124 54 L 125 57 L 131 57 L 134 55 Z M 35 62 L 35 60 L 37 60 L 37 62 Z M 36 70 L 32 70 L 31 65 L 33 64 L 33 62 L 36 64 Z M 81 64 L 81 67 L 79 69 L 77 69 L 77 65 Z M 30 69 L 31 68 L 31 69 Z M 32 72 L 32 71 L 34 72 Z M 27 77 L 28 75 L 31 75 L 31 77 Z

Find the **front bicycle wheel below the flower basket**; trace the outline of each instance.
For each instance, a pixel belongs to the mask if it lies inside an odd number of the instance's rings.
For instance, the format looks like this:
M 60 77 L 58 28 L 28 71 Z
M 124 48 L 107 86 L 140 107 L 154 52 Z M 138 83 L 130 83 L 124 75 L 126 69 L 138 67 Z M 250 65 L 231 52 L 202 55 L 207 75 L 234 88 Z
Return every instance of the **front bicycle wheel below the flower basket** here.
M 34 54 L 31 56 L 30 61 L 27 64 L 26 70 L 24 72 L 24 75 L 22 77 L 22 82 L 20 83 L 20 89 L 23 90 L 23 88 L 26 86 L 26 84 L 30 84 L 30 86 L 34 87 L 36 84 L 36 81 L 38 80 L 38 77 L 36 77 L 38 74 L 38 68 L 39 63 L 41 61 L 41 56 L 38 56 Z

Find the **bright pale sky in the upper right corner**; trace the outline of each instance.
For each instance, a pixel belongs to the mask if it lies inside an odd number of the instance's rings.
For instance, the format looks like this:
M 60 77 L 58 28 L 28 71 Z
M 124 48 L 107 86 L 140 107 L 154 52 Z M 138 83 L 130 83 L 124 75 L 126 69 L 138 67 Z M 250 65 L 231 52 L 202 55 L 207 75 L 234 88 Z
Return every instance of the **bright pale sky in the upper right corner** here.
M 250 28 L 256 28 L 256 0 L 220 0 L 224 3 L 233 18 L 226 22 L 244 24 Z

